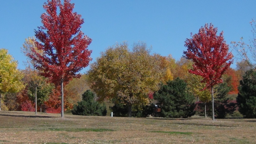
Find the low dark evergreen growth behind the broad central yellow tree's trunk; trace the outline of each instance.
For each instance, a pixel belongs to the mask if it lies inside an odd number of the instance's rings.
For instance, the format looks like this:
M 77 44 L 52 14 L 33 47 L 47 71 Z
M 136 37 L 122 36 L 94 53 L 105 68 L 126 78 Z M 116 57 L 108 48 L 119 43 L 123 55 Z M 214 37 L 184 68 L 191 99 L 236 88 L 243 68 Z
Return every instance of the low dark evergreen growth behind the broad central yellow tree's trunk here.
M 128 117 L 128 105 L 120 103 L 120 100 L 113 100 L 115 101 L 115 105 L 113 107 L 109 106 L 109 109 L 113 111 L 114 116 L 120 117 Z M 148 117 L 153 113 L 153 106 L 148 105 L 133 105 L 132 106 L 132 116 L 133 117 Z

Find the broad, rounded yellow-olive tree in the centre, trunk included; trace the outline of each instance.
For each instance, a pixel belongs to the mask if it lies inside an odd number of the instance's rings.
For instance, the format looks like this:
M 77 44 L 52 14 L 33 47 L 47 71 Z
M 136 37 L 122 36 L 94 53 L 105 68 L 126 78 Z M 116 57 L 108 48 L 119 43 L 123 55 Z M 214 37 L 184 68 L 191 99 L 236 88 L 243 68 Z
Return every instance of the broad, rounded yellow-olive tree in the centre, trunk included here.
M 100 100 L 119 99 L 128 105 L 131 117 L 132 105 L 147 105 L 148 93 L 159 89 L 162 70 L 160 59 L 150 55 L 145 43 L 134 44 L 132 52 L 123 43 L 101 53 L 91 65 L 88 76 Z

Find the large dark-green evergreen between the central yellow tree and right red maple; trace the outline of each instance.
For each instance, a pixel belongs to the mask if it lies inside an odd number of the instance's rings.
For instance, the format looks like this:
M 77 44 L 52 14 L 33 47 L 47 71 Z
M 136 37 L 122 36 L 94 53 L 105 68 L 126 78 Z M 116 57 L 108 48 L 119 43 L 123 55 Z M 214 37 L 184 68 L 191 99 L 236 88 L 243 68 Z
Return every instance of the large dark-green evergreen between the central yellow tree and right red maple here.
M 157 105 L 161 108 L 160 116 L 187 118 L 195 114 L 194 96 L 188 92 L 184 80 L 176 78 L 162 85 L 160 90 L 154 94 Z

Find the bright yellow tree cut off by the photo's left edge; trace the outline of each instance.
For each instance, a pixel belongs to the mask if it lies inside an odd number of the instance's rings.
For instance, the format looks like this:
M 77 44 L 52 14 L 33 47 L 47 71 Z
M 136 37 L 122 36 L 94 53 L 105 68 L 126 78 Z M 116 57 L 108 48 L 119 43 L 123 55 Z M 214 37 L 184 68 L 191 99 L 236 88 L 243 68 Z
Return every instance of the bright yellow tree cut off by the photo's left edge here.
M 2 94 L 18 92 L 24 88 L 21 82 L 22 73 L 17 69 L 15 61 L 6 49 L 0 49 L 0 110 Z

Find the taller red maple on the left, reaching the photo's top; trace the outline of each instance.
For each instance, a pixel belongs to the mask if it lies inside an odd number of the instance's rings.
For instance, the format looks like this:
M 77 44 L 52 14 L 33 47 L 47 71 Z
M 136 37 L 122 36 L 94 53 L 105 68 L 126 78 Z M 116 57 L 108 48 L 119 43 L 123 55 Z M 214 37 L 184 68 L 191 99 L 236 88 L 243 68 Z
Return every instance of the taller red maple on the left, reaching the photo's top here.
M 64 117 L 63 83 L 68 82 L 91 61 L 88 45 L 92 39 L 80 30 L 84 20 L 73 12 L 70 0 L 48 0 L 41 15 L 43 26 L 35 30 L 36 48 L 28 53 L 41 75 L 61 85 L 61 117 Z M 57 12 L 59 7 L 60 12 Z

